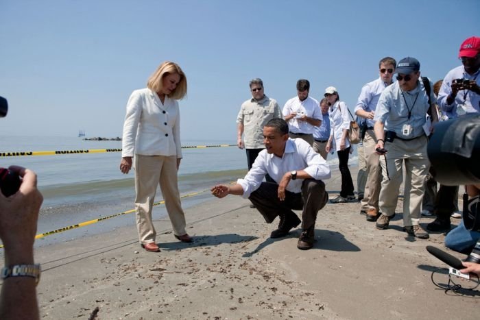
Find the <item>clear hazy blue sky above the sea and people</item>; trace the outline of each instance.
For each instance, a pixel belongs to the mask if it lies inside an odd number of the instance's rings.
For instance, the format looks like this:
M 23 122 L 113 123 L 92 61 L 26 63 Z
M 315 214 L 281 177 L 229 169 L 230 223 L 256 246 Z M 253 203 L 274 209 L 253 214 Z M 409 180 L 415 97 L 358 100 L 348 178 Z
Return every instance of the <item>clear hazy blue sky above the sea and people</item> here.
M 0 0 L 0 135 L 121 136 L 132 90 L 172 60 L 189 84 L 182 140 L 235 143 L 253 77 L 281 107 L 306 78 L 352 110 L 384 56 L 442 79 L 479 16 L 478 0 Z

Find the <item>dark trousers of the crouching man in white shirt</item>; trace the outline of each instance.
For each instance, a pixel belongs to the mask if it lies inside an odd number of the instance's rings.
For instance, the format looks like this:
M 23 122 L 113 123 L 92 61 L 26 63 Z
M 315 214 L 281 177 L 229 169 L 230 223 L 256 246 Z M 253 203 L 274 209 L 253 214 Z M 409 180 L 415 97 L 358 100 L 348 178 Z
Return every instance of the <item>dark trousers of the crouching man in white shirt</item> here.
M 285 200 L 278 199 L 278 184 L 262 182 L 261 186 L 248 197 L 267 223 L 272 223 L 281 214 L 288 217 L 291 210 L 302 210 L 302 230 L 315 226 L 317 213 L 328 201 L 325 184 L 321 180 L 306 179 L 302 193 L 285 191 Z

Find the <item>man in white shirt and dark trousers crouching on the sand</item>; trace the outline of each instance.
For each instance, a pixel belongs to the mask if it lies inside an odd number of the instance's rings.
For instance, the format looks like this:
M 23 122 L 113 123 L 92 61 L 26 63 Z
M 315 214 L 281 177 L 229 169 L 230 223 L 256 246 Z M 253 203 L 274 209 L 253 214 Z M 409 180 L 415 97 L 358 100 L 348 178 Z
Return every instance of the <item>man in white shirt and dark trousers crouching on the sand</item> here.
M 302 234 L 297 247 L 306 250 L 313 247 L 317 213 L 328 201 L 322 180 L 329 179 L 331 172 L 319 153 L 304 140 L 289 138 L 288 130 L 283 119 L 268 121 L 263 127 L 265 149 L 256 157 L 252 169 L 237 184 L 220 184 L 211 191 L 219 198 L 241 195 L 250 199 L 267 223 L 279 216 L 278 229 L 270 238 L 287 236 L 300 223 L 292 210 L 302 210 Z M 267 174 L 278 184 L 262 182 Z

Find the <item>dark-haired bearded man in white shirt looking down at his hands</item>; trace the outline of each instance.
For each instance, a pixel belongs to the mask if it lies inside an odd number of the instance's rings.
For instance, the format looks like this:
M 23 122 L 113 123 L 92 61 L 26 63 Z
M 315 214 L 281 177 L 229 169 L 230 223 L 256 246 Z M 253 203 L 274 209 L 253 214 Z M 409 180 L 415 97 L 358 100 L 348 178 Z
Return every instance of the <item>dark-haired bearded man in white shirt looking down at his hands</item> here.
M 315 139 L 315 127 L 322 124 L 322 112 L 317 100 L 309 97 L 310 82 L 300 79 L 297 82 L 297 97 L 289 99 L 283 106 L 283 118 L 289 126 L 290 138 L 302 138 L 311 146 Z

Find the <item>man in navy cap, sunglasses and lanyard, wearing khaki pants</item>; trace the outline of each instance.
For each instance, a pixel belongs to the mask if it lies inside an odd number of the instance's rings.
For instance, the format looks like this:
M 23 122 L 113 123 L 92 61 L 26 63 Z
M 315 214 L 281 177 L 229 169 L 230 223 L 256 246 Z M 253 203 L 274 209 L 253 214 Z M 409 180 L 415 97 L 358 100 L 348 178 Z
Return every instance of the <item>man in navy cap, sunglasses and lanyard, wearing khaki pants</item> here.
M 404 230 L 416 238 L 426 239 L 429 234 L 420 227 L 420 208 L 430 163 L 423 125 L 427 112 L 435 103 L 435 95 L 430 90 L 429 99 L 423 82 L 419 81 L 420 62 L 415 58 L 400 60 L 396 73 L 398 81 L 383 90 L 374 116 L 375 148 L 384 155 L 380 158 L 383 180 L 379 208 L 382 214 L 375 226 L 379 230 L 387 229 L 395 215 L 405 165 Z M 431 82 L 430 86 L 433 87 Z M 438 121 L 436 112 L 431 112 L 431 117 L 432 123 Z

